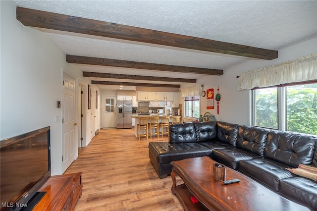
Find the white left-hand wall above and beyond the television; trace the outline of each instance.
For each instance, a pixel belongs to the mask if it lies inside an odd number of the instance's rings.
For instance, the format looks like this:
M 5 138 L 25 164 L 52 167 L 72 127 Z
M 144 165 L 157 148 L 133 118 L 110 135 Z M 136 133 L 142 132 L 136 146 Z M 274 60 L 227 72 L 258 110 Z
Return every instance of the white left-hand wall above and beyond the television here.
M 62 100 L 62 69 L 76 78 L 77 91 L 79 80 L 85 86 L 91 81 L 45 33 L 17 21 L 15 11 L 13 1 L 0 1 L 0 140 L 51 126 L 52 174 L 61 174 L 62 110 L 56 105 Z

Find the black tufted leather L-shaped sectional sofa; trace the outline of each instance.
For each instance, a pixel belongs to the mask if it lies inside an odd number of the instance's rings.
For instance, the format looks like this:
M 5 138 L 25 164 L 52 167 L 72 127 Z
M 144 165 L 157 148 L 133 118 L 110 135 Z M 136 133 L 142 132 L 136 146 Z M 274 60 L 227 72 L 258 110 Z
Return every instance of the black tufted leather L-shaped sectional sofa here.
M 317 182 L 285 168 L 317 167 L 317 136 L 221 121 L 172 124 L 168 142 L 150 142 L 149 158 L 160 178 L 170 162 L 209 156 L 272 191 L 317 210 Z

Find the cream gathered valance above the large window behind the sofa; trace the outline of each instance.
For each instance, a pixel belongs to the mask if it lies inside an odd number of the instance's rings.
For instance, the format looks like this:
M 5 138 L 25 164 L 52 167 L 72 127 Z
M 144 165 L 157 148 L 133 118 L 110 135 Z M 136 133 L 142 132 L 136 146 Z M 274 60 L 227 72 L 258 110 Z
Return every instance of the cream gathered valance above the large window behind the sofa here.
M 317 53 L 239 75 L 239 90 L 317 80 Z

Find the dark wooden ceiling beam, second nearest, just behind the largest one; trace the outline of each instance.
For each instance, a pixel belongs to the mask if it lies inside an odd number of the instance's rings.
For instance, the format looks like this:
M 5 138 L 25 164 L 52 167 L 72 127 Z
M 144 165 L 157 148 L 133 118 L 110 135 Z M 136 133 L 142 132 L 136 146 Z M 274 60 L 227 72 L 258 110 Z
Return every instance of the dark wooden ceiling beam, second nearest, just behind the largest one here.
M 160 70 L 168 72 L 180 72 L 180 73 L 195 73 L 195 74 L 206 74 L 206 75 L 222 75 L 223 70 L 218 69 L 207 69 L 198 67 L 185 67 L 175 66 L 167 64 L 155 64 L 138 61 L 126 61 L 109 58 L 96 58 L 79 55 L 66 55 L 66 61 L 68 63 L 75 64 L 90 64 L 90 65 L 101 65 L 101 66 L 112 66 L 112 67 L 124 67 L 133 69 L 145 69 L 145 70 Z

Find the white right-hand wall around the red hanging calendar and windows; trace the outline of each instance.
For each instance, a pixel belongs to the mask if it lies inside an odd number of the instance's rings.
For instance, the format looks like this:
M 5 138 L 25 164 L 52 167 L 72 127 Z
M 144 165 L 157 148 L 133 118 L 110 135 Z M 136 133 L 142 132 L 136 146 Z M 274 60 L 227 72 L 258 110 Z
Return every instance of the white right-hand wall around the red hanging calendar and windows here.
M 219 93 L 221 100 L 219 103 L 219 115 L 217 115 L 216 101 L 214 109 L 207 110 L 207 100 L 201 98 L 201 114 L 210 112 L 215 115 L 217 120 L 237 123 L 241 125 L 250 125 L 250 94 L 249 90 L 238 91 L 238 76 L 242 72 L 265 67 L 268 65 L 279 64 L 285 61 L 293 60 L 304 55 L 317 53 L 317 38 L 302 42 L 300 44 L 280 50 L 278 58 L 274 60 L 251 60 L 249 62 L 235 65 L 224 69 L 221 76 L 204 76 L 197 79 L 198 84 L 204 85 L 204 90 L 213 88 L 214 93 Z M 185 84 L 181 88 L 193 86 Z M 182 103 L 184 105 L 183 99 Z

